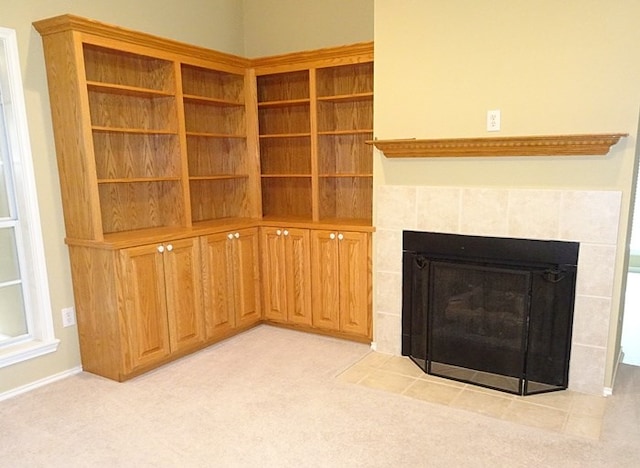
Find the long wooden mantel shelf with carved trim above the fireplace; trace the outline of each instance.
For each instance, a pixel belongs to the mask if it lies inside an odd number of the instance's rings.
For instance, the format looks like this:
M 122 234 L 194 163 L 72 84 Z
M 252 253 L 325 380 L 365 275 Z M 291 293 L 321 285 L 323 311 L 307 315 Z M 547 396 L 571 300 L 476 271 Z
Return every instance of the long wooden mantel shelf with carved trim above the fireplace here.
M 388 158 L 605 155 L 627 133 L 370 140 Z

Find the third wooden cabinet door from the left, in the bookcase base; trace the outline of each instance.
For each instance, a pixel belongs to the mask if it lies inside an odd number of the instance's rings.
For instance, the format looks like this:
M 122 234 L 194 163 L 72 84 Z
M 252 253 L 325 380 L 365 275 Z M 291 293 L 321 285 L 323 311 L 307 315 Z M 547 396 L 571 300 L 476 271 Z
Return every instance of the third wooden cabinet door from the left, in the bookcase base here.
M 201 239 L 205 336 L 225 336 L 235 327 L 232 251 L 226 233 Z

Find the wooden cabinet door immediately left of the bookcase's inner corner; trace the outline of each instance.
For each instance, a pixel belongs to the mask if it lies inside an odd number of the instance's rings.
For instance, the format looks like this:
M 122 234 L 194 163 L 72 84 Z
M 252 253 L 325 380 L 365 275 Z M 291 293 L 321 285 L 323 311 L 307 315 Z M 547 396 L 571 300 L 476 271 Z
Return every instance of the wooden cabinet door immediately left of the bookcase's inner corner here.
M 231 245 L 236 326 L 243 327 L 262 318 L 258 228 L 234 232 Z

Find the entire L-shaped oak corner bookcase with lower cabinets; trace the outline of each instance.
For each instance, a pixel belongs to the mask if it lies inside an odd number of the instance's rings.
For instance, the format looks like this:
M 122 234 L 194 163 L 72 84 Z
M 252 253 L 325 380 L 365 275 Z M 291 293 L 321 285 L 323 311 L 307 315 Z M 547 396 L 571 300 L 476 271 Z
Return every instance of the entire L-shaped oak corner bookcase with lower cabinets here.
M 85 370 L 126 380 L 263 321 L 371 340 L 373 44 L 249 60 L 34 26 Z

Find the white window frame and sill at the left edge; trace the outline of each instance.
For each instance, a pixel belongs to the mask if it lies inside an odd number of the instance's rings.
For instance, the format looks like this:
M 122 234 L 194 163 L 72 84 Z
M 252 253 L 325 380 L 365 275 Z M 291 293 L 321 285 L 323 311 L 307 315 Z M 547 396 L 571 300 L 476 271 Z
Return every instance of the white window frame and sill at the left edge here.
M 18 41 L 13 29 L 0 27 L 0 49 L 5 57 L 6 70 L 0 68 L 3 99 L 10 112 L 7 121 L 7 145 L 11 157 L 13 191 L 18 213 L 16 241 L 20 259 L 20 275 L 27 321 L 27 334 L 7 344 L 0 344 L 0 368 L 32 359 L 57 350 L 60 340 L 55 338 L 49 282 L 44 255 L 44 242 L 38 211 L 38 197 L 24 91 L 18 58 Z

